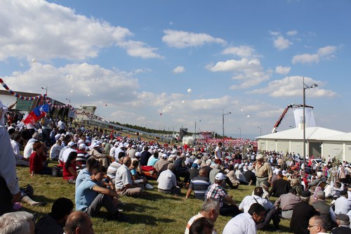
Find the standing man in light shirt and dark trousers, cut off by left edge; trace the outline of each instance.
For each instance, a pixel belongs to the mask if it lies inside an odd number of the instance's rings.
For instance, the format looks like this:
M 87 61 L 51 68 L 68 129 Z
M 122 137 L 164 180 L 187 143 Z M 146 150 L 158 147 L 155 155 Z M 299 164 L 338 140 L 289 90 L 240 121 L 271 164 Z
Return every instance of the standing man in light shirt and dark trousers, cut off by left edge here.
M 3 108 L 0 103 L 0 121 L 3 118 Z M 5 127 L 0 124 L 0 216 L 12 212 L 13 203 L 20 200 L 20 186 L 16 174 L 16 160 L 11 147 L 10 136 Z

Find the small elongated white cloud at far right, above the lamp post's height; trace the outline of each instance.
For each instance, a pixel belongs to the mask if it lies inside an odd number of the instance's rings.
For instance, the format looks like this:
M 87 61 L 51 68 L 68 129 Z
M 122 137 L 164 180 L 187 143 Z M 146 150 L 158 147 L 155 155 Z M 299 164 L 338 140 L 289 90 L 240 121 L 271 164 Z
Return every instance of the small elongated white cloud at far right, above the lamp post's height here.
M 297 56 L 293 56 L 291 63 L 302 63 L 302 64 L 312 64 L 319 63 L 321 59 L 333 58 L 334 53 L 336 52 L 336 46 L 324 46 L 317 50 L 317 53 L 303 53 Z

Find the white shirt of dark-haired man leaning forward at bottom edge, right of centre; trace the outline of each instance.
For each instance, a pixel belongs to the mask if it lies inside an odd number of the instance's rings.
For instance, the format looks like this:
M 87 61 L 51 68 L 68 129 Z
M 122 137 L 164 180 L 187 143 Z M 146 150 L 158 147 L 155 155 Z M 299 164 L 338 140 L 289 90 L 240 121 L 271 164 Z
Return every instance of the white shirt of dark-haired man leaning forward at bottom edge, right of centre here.
M 225 225 L 223 234 L 256 234 L 256 223 L 248 213 L 241 213 Z

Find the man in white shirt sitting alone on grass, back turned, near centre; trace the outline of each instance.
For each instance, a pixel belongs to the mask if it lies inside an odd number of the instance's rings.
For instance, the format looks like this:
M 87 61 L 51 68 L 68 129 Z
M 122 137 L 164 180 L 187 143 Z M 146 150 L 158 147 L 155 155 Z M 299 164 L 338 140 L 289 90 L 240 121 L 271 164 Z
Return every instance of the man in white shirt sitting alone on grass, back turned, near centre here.
M 166 171 L 162 171 L 157 178 L 159 185 L 157 188 L 160 193 L 179 195 L 180 188 L 177 186 L 176 175 L 173 173 L 175 166 L 173 163 L 167 165 Z

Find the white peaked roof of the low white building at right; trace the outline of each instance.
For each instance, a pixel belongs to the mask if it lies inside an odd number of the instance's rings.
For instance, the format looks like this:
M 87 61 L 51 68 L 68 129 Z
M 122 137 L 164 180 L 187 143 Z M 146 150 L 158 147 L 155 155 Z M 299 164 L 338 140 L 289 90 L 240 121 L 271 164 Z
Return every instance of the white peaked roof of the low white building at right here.
M 343 131 L 336 131 L 332 129 L 325 129 L 320 126 L 306 127 L 306 139 L 308 140 L 331 140 L 331 141 L 345 141 L 340 140 L 339 136 L 347 135 Z M 344 136 L 345 138 L 346 136 Z M 279 131 L 274 134 L 265 136 L 258 136 L 257 139 L 274 139 L 274 140 L 303 140 L 303 128 L 288 129 L 286 131 Z M 348 135 L 351 141 L 351 133 Z

